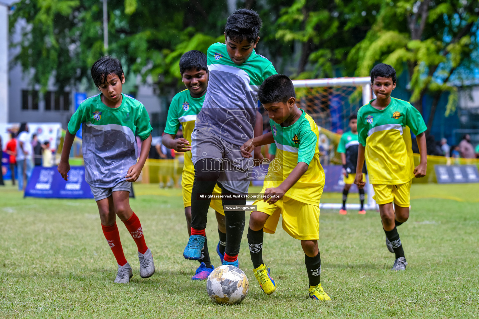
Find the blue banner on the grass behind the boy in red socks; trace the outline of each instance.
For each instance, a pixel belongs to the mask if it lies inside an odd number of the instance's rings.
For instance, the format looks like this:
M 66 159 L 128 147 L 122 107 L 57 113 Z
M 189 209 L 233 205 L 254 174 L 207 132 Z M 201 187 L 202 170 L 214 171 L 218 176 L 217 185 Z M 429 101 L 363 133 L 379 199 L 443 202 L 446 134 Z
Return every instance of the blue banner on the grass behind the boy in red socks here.
M 72 166 L 68 181 L 64 180 L 57 167 L 35 166 L 25 188 L 25 197 L 43 198 L 93 198 L 90 186 L 85 181 L 85 167 Z

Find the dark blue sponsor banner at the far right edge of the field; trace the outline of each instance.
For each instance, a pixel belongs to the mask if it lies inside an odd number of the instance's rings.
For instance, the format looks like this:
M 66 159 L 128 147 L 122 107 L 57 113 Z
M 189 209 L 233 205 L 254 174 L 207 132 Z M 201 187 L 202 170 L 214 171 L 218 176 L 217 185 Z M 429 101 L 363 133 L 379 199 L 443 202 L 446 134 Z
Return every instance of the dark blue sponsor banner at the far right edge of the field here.
M 476 165 L 434 165 L 439 184 L 479 183 L 479 171 Z

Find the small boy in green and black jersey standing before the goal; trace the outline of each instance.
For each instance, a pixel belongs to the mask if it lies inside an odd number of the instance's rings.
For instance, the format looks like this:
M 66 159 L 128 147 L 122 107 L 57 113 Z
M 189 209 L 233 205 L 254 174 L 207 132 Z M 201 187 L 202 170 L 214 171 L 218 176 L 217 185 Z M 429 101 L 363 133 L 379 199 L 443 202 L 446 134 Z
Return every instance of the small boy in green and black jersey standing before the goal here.
M 349 189 L 354 183 L 354 177 L 356 173 L 356 163 L 358 160 L 358 130 L 357 130 L 357 115 L 351 114 L 349 117 L 349 128 L 351 131 L 344 132 L 341 136 L 341 140 L 338 143 L 338 149 L 336 150 L 341 154 L 342 168 L 344 174 L 344 189 L 342 190 L 342 208 L 339 213 L 346 215 L 346 199 L 348 198 Z M 363 173 L 366 167 L 363 167 Z M 364 179 L 364 178 L 363 178 Z M 359 188 L 359 200 L 361 201 L 361 207 L 359 208 L 359 214 L 365 214 L 364 210 L 364 189 Z

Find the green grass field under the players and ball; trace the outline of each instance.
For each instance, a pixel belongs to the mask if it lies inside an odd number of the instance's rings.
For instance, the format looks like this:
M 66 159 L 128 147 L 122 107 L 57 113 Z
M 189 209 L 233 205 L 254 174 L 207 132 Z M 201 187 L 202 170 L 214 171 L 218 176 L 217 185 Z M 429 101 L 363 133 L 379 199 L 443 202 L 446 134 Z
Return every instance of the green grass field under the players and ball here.
M 9 182 L 7 182 L 9 183 Z M 248 297 L 221 306 L 192 282 L 197 262 L 183 259 L 187 242 L 180 190 L 136 184 L 131 207 L 142 221 L 157 271 L 138 274 L 136 245 L 118 222 L 133 267 L 129 285 L 113 283 L 116 263 L 93 200 L 22 198 L 0 188 L 1 318 L 478 318 L 479 185 L 413 185 L 411 217 L 399 227 L 408 268 L 389 269 L 379 214 L 320 216 L 321 283 L 333 298 L 306 298 L 308 278 L 299 241 L 282 229 L 265 234 L 263 256 L 277 290 L 266 296 L 252 274 L 246 231 L 240 268 Z M 448 198 L 448 199 L 443 199 Z M 339 194 L 324 194 L 337 201 Z M 351 198 L 357 202 L 357 196 Z M 207 234 L 214 265 L 217 231 Z

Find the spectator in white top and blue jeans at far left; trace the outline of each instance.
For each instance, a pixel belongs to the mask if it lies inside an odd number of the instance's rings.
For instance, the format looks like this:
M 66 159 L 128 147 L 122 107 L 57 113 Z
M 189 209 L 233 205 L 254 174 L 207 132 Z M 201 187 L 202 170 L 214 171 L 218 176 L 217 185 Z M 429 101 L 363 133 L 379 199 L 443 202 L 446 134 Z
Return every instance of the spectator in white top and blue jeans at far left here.
M 18 168 L 18 190 L 23 190 L 23 182 L 30 179 L 33 170 L 32 162 L 32 143 L 30 142 L 30 133 L 28 124 L 23 122 L 17 135 L 17 168 Z

